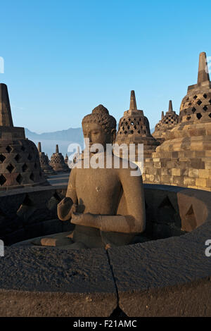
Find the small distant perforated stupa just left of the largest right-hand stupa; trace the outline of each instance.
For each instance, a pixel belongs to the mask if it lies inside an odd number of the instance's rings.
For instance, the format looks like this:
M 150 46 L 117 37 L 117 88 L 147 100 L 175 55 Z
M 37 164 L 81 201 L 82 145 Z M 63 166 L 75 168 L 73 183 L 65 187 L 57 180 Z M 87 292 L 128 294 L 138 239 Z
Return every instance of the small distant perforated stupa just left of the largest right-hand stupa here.
M 172 130 L 175 125 L 177 125 L 179 115 L 173 111 L 172 100 L 169 103 L 169 110 L 165 113 L 162 111 L 161 120 L 156 124 L 155 131 L 153 132 L 153 137 L 158 139 L 160 142 L 164 142 L 165 133 Z

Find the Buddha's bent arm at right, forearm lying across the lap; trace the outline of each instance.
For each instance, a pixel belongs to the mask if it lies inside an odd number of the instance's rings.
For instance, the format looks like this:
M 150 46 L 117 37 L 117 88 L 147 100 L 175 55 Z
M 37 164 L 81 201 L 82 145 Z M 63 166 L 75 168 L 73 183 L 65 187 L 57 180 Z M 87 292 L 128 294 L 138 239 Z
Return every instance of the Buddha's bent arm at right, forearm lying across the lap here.
M 130 176 L 130 171 L 131 169 L 119 170 L 128 215 L 103 216 L 90 213 L 73 213 L 71 222 L 78 225 L 97 227 L 105 232 L 143 232 L 145 230 L 145 202 L 142 177 Z

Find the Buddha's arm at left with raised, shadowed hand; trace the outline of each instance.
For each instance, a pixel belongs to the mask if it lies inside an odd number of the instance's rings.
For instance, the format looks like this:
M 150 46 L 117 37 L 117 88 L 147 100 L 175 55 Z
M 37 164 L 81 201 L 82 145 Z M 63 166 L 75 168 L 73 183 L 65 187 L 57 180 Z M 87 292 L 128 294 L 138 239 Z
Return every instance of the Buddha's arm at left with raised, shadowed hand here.
M 76 168 L 70 173 L 66 197 L 57 205 L 58 218 L 60 220 L 70 220 L 72 211 L 75 211 L 77 204 L 77 194 L 75 192 Z

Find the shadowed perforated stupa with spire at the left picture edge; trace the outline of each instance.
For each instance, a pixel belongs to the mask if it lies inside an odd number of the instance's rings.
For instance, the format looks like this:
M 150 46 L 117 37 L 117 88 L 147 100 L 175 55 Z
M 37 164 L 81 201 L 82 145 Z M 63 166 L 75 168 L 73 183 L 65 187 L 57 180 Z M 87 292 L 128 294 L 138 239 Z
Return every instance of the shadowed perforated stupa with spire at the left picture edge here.
M 41 172 L 34 142 L 14 127 L 8 89 L 0 84 L 0 190 L 49 185 Z

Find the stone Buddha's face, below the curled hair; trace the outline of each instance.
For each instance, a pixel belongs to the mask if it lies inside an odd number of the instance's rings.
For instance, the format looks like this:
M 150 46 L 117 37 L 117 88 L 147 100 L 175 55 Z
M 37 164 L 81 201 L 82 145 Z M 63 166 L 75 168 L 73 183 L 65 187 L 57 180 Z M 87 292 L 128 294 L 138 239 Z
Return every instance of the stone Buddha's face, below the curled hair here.
M 91 148 L 93 144 L 101 144 L 103 145 L 103 148 L 106 150 L 106 144 L 112 144 L 113 139 L 115 137 L 115 130 L 114 132 L 108 133 L 103 130 L 103 127 L 101 125 L 98 125 L 96 123 L 84 123 L 82 125 L 84 138 L 89 139 L 89 146 L 86 146 L 87 148 Z

